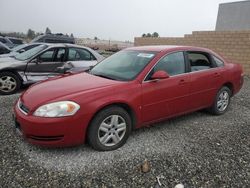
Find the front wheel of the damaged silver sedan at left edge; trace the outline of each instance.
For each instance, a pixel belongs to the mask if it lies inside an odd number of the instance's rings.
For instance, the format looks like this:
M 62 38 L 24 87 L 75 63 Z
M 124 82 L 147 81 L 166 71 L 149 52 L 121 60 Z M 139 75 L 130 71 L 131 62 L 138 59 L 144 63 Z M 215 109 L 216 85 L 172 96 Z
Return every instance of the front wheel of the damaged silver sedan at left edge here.
M 21 80 L 12 72 L 0 72 L 0 95 L 11 95 L 21 87 Z

